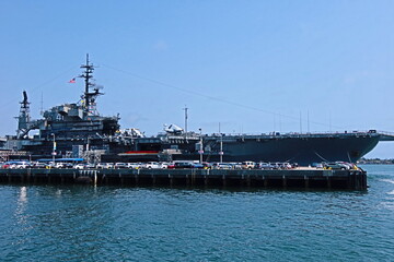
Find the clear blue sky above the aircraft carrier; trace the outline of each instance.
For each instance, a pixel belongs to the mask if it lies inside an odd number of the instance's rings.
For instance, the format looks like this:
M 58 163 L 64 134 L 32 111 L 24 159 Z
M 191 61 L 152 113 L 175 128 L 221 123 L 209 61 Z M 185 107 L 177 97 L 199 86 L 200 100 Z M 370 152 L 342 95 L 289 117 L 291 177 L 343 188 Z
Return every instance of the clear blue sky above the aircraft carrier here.
M 394 131 L 394 1 L 0 2 L 0 135 L 22 91 L 77 102 L 85 53 L 103 115 L 147 134 Z M 301 121 L 300 121 L 301 119 Z M 309 121 L 308 121 L 309 119 Z M 301 122 L 301 124 L 300 124 Z M 381 143 L 369 157 L 394 157 Z

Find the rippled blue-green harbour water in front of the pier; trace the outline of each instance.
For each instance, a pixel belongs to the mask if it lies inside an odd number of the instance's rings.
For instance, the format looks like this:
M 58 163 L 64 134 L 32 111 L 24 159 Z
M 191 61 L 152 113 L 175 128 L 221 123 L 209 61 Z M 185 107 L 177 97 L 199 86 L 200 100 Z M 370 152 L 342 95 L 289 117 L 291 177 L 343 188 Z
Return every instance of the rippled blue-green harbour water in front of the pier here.
M 0 261 L 394 261 L 394 166 L 367 192 L 0 186 Z

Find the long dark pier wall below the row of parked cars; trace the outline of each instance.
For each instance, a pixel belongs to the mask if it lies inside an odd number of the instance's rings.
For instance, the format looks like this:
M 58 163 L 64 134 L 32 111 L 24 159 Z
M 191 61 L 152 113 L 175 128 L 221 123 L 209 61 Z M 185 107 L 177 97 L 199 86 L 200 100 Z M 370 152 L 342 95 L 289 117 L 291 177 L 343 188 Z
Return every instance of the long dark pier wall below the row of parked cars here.
M 0 169 L 1 183 L 86 183 L 367 190 L 362 170 Z

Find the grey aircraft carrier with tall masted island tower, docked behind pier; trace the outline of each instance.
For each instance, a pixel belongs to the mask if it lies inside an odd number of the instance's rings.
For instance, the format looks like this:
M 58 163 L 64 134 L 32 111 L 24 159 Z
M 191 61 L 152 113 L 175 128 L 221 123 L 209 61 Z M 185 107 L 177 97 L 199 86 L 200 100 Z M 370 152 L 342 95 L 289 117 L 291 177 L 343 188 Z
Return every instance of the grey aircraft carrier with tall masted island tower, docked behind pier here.
M 383 135 L 374 130 L 336 133 L 202 134 L 175 124 L 146 138 L 138 129 L 120 129 L 119 116 L 103 117 L 96 99 L 103 95 L 93 81 L 94 66 L 81 66 L 84 93 L 78 103 L 55 106 L 32 120 L 23 92 L 16 135 L 7 147 L 32 159 L 83 157 L 89 162 L 147 162 L 199 159 L 201 162 L 321 162 L 355 163 L 373 150 Z M 187 110 L 185 111 L 187 114 Z M 186 126 L 187 123 L 185 123 Z M 30 135 L 31 131 L 36 131 Z M 389 135 L 390 136 L 390 135 Z M 385 135 L 385 140 L 391 140 Z

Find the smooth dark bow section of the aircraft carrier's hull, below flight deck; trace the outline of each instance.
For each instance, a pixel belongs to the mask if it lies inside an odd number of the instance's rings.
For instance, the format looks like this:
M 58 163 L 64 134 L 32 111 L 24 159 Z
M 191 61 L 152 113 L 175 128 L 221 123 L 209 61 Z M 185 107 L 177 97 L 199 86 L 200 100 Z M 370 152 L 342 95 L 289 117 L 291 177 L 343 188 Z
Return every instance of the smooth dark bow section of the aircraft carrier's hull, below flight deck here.
M 223 143 L 223 162 L 291 162 L 309 165 L 321 162 L 356 163 L 372 151 L 379 135 L 278 138 L 244 140 Z M 206 154 L 208 160 L 218 160 L 219 154 Z

